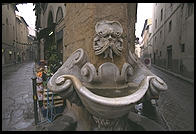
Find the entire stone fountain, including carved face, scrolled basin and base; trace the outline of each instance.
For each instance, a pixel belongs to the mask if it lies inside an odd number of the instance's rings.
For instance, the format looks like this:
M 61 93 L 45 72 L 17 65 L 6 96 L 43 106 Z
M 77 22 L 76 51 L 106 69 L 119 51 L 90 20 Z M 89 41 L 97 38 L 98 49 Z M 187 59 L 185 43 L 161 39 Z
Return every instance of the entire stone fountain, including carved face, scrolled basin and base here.
M 158 100 L 167 85 L 131 50 L 121 67 L 114 63 L 115 58 L 124 56 L 122 35 L 118 21 L 98 21 L 91 45 L 95 56 L 108 60 L 97 67 L 88 52 L 79 48 L 51 77 L 48 88 L 87 111 L 89 130 L 163 130 L 158 123 L 138 115 L 135 106 Z

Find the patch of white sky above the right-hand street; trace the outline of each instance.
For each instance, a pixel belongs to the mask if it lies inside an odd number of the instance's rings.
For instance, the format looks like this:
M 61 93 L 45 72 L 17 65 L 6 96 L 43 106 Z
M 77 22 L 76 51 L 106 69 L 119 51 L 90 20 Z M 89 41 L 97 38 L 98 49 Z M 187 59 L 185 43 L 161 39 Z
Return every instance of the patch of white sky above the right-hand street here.
M 138 3 L 137 6 L 137 23 L 135 25 L 136 37 L 139 37 L 139 41 L 142 41 L 141 33 L 144 27 L 144 22 L 148 18 L 152 18 L 152 5 L 153 3 Z

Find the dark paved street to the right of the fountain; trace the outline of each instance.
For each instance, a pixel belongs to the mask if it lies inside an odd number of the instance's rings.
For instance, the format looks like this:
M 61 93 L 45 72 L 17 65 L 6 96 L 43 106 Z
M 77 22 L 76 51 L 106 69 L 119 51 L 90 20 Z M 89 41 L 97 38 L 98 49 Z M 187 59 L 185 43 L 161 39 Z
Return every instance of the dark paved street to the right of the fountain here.
M 154 67 L 151 71 L 168 86 L 158 101 L 160 112 L 171 131 L 194 130 L 194 85 Z

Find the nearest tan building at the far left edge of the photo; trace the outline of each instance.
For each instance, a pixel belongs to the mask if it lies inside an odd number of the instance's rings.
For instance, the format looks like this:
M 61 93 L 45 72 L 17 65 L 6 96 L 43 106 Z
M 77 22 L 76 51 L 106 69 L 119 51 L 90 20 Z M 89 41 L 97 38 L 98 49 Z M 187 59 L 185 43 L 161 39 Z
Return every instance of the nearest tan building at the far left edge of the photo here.
M 16 14 L 14 4 L 2 4 L 2 65 L 13 63 L 16 59 Z

